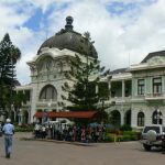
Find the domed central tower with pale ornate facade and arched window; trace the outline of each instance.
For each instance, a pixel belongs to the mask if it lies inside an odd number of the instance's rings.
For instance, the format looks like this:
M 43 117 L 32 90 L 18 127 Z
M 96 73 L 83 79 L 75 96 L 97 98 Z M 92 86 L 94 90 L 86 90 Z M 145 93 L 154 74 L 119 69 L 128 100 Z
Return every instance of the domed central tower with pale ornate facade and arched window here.
M 69 59 L 78 55 L 84 62 L 98 58 L 92 42 L 75 32 L 72 16 L 66 18 L 66 25 L 55 35 L 46 40 L 37 51 L 37 55 L 28 62 L 31 69 L 32 105 L 31 120 L 37 110 L 59 110 L 62 107 L 62 86 L 72 81 L 65 77 L 70 69 Z M 65 102 L 68 105 L 68 102 Z

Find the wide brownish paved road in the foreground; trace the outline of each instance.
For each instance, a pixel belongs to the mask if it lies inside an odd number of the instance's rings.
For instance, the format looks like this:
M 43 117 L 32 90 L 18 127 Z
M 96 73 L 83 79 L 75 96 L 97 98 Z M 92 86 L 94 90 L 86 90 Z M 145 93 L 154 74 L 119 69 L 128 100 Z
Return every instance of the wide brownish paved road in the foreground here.
M 0 138 L 1 165 L 163 165 L 160 151 L 145 152 L 139 142 L 99 143 L 90 146 L 43 141 L 22 141 L 16 133 L 13 154 L 4 157 Z

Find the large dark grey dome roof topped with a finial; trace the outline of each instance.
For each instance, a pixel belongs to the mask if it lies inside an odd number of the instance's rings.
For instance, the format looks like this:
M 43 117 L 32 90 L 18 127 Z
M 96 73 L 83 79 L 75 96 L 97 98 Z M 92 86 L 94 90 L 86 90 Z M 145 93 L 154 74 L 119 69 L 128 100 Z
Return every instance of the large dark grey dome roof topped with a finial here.
M 91 57 L 97 58 L 98 54 L 96 48 L 92 45 L 92 42 L 88 41 L 87 37 L 82 36 L 80 33 L 77 33 L 73 30 L 73 21 L 72 16 L 66 18 L 65 29 L 62 29 L 54 36 L 46 40 L 40 47 L 37 54 L 41 53 L 43 47 L 56 47 L 59 50 L 68 48 L 70 51 L 75 51 L 79 54 L 85 54 Z

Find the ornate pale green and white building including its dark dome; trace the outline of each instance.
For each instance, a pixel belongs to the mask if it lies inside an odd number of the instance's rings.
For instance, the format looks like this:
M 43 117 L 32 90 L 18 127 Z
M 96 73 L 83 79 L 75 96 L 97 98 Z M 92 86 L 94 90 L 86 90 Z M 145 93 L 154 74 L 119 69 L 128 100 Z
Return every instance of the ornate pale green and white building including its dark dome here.
M 28 62 L 31 84 L 18 86 L 18 92 L 29 94 L 20 110 L 21 122 L 33 122 L 37 111 L 63 110 L 64 76 L 69 70 L 69 59 L 78 55 L 97 58 L 95 47 L 73 30 L 73 18 L 66 18 L 65 29 L 45 41 L 37 55 Z M 129 124 L 141 129 L 150 123 L 165 123 L 165 51 L 150 53 L 142 63 L 110 73 L 105 78 L 110 89 L 105 101 L 113 124 Z M 65 102 L 69 105 L 69 102 Z M 99 103 L 98 103 L 99 105 Z

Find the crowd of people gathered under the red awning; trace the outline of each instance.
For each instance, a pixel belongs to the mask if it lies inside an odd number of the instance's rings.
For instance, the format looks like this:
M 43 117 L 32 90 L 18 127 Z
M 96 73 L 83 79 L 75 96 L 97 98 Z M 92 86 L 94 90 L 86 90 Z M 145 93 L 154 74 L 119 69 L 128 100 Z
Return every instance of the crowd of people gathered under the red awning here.
M 79 141 L 79 142 L 98 142 L 103 141 L 106 136 L 106 128 L 98 127 L 78 127 L 65 124 L 44 124 L 36 123 L 34 127 L 34 136 L 41 139 L 54 139 L 62 141 Z

